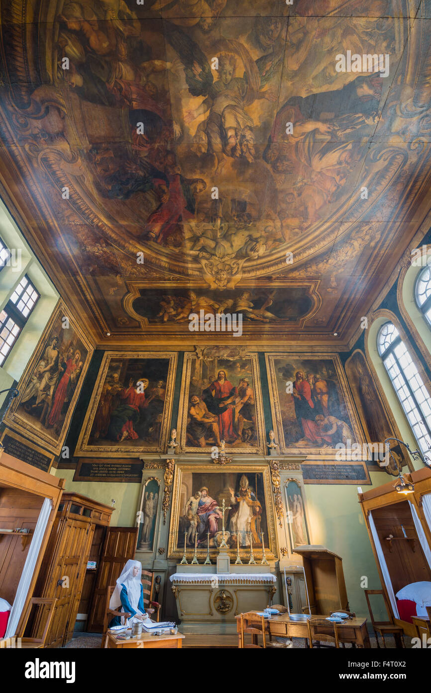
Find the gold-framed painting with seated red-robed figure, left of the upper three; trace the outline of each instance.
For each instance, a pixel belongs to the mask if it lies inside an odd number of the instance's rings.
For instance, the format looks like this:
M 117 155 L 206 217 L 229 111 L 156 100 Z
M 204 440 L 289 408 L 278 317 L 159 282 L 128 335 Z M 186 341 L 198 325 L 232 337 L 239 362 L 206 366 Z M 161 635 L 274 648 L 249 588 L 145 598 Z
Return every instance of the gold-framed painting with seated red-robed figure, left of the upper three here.
M 75 456 L 164 452 L 176 359 L 172 351 L 105 353 Z

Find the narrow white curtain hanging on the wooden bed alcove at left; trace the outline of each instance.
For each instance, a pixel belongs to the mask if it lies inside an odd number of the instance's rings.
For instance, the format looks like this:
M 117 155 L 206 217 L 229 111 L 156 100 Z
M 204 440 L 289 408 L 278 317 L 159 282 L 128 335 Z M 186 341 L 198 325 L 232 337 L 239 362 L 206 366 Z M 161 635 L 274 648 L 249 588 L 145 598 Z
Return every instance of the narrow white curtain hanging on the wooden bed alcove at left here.
M 49 500 L 49 498 L 45 498 L 39 513 L 39 517 L 37 518 L 35 531 L 33 532 L 33 537 L 31 539 L 30 548 L 28 549 L 26 562 L 24 563 L 24 568 L 21 573 L 17 593 L 15 595 L 15 599 L 13 600 L 12 608 L 10 610 L 8 628 L 6 630 L 5 638 L 12 637 L 12 635 L 15 635 L 15 631 L 17 630 L 19 619 L 21 618 L 21 613 L 23 611 L 24 604 L 26 602 L 26 598 L 28 595 L 28 590 L 30 589 L 30 582 L 33 577 L 33 573 L 35 572 L 37 556 L 39 556 L 42 539 L 44 538 L 48 518 L 51 514 L 51 509 L 52 501 Z

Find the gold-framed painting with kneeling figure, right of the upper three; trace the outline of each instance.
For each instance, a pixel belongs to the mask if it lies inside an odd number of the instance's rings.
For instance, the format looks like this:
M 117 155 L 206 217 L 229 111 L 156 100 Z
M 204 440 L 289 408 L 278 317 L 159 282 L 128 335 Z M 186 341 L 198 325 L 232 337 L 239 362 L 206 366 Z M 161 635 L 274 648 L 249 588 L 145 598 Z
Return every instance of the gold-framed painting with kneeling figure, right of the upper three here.
M 362 442 L 338 356 L 266 353 L 273 425 L 280 453 L 332 455 Z

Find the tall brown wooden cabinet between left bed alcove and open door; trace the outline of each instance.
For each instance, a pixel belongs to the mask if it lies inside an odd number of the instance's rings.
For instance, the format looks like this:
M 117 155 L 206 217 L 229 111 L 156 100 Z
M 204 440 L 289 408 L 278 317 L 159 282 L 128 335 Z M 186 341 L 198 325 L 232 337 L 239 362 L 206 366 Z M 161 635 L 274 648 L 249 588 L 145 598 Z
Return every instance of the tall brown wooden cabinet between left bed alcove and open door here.
M 106 531 L 111 514 L 111 507 L 91 498 L 76 493 L 62 495 L 35 589 L 37 596 L 58 600 L 46 647 L 61 647 L 72 638 L 95 527 Z M 38 625 L 33 624 L 32 635 Z

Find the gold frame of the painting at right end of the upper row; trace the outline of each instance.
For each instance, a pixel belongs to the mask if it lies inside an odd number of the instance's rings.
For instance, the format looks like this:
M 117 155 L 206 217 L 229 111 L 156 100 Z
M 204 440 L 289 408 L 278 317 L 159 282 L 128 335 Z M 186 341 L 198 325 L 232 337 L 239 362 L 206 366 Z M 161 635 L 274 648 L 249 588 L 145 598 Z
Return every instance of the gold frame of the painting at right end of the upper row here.
M 354 442 L 360 442 L 363 440 L 363 433 L 361 432 L 360 428 L 360 423 L 358 421 L 358 416 L 356 414 L 356 410 L 354 407 L 353 402 L 351 401 L 351 394 L 349 391 L 349 387 L 347 385 L 347 379 L 345 376 L 345 372 L 342 369 L 342 365 L 340 362 L 340 358 L 338 357 L 337 354 L 327 354 L 327 353 L 322 353 L 322 354 L 313 354 L 309 355 L 307 354 L 304 356 L 304 354 L 301 353 L 285 353 L 285 352 L 270 352 L 265 354 L 265 360 L 266 360 L 266 371 L 268 373 L 268 387 L 270 391 L 270 405 L 271 405 L 271 414 L 273 416 L 273 426 L 275 430 L 277 431 L 277 436 L 278 436 L 278 441 L 279 441 L 279 450 L 282 455 L 307 455 L 307 456 L 317 456 L 316 459 L 324 459 L 324 455 L 331 455 L 333 457 L 333 454 L 335 452 L 335 446 L 331 446 L 331 444 L 325 444 L 323 447 L 322 445 L 314 445 L 310 441 L 310 445 L 295 445 L 295 443 L 289 444 L 288 441 L 286 441 L 286 436 L 284 432 L 284 423 L 283 423 L 283 416 L 282 416 L 282 406 L 280 404 L 279 400 L 279 388 L 277 387 L 277 364 L 276 362 L 279 360 L 283 360 L 285 362 L 288 362 L 289 366 L 292 366 L 294 370 L 304 370 L 304 366 L 301 366 L 301 362 L 316 362 L 316 367 L 317 367 L 317 362 L 322 363 L 323 361 L 329 361 L 333 365 L 333 374 L 336 376 L 336 385 L 338 385 L 340 392 L 338 394 L 341 394 L 342 396 L 342 402 L 340 404 L 345 406 L 345 410 L 347 413 L 347 416 L 349 418 L 349 425 L 351 428 L 351 433 L 353 434 L 353 439 L 352 443 Z M 295 365 L 295 362 L 296 365 Z M 291 380 L 293 381 L 295 379 L 295 376 L 293 375 Z M 284 408 L 284 412 L 286 409 Z M 296 441 L 297 442 L 297 441 Z

